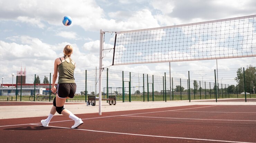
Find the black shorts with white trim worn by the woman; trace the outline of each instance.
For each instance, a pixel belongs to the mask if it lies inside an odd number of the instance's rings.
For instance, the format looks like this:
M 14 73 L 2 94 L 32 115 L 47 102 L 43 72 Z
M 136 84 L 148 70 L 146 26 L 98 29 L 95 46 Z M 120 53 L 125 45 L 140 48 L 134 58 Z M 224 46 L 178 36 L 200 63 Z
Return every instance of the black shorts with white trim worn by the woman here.
M 60 98 L 74 98 L 76 91 L 76 84 L 58 84 L 57 85 L 57 95 Z

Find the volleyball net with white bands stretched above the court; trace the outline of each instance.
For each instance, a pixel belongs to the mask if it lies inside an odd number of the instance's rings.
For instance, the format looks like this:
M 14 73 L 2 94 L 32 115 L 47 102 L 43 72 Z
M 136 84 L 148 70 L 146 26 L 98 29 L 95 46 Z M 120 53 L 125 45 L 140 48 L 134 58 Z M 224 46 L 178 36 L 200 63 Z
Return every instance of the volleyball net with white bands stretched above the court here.
M 116 32 L 112 65 L 256 56 L 256 15 Z

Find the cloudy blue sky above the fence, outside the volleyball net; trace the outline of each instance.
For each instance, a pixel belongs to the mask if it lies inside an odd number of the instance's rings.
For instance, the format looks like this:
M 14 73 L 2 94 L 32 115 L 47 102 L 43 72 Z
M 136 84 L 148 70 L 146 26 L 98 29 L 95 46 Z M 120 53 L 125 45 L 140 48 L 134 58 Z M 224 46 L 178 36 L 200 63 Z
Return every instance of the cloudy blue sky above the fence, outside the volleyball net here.
M 99 67 L 100 30 L 157 28 L 256 14 L 255 0 L 0 0 L 0 5 L 0 75 L 4 76 L 16 74 L 21 66 L 27 74 L 53 73 L 54 60 L 63 56 L 68 44 L 74 48 L 76 71 L 95 69 Z M 72 18 L 70 26 L 62 24 L 65 15 Z M 255 60 L 219 59 L 218 68 L 256 66 Z M 216 66 L 216 60 L 173 62 L 171 71 L 212 70 Z M 111 69 L 168 73 L 169 63 Z

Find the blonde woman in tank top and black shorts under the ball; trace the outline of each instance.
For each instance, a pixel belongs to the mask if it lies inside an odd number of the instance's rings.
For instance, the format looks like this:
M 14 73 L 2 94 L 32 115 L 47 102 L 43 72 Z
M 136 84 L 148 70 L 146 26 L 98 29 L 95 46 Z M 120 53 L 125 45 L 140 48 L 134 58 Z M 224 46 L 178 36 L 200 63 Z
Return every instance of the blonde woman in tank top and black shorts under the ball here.
M 75 121 L 71 128 L 77 128 L 83 121 L 76 117 L 73 113 L 64 108 L 66 99 L 73 98 L 75 96 L 76 84 L 74 78 L 75 62 L 70 58 L 73 53 L 73 47 L 66 45 L 63 50 L 64 57 L 56 58 L 54 62 L 54 74 L 52 92 L 56 93 L 56 97 L 53 100 L 53 107 L 47 119 L 41 120 L 43 126 L 48 126 L 50 120 L 56 111 L 59 114 L 63 114 Z M 55 87 L 57 74 L 59 73 L 58 84 Z

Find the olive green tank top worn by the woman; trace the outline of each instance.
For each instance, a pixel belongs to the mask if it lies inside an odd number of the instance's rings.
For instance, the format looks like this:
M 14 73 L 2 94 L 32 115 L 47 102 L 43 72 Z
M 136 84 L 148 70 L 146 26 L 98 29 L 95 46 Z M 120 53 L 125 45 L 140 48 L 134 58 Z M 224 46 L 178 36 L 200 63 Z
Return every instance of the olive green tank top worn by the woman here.
M 60 58 L 62 63 L 58 65 L 58 73 L 59 73 L 58 84 L 75 83 L 75 78 L 74 78 L 75 65 L 72 64 L 72 59 L 71 58 L 69 59 L 70 59 L 70 62 L 67 63 L 66 61 L 62 62 Z

